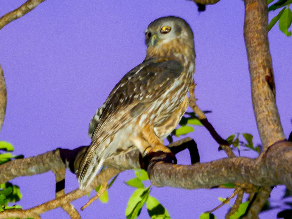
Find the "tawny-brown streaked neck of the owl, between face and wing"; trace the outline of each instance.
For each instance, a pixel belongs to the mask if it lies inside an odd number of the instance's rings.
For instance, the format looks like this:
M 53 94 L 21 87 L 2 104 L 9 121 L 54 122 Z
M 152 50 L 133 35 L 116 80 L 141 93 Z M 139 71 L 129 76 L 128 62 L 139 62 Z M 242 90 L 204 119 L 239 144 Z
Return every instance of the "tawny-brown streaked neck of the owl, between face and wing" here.
M 175 60 L 182 64 L 188 61 L 194 62 L 196 57 L 194 45 L 189 44 L 184 42 L 183 39 L 175 39 L 163 45 L 150 46 L 147 48 L 145 60 L 162 58 Z

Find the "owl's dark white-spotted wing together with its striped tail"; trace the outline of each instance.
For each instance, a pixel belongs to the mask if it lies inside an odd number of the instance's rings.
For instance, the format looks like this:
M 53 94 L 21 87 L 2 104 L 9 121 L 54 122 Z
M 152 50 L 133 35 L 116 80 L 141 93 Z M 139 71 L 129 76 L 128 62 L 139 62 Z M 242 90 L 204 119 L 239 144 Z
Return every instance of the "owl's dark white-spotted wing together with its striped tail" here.
M 108 144 L 103 142 L 166 94 L 182 71 L 183 66 L 179 62 L 149 60 L 129 71 L 119 81 L 105 101 L 91 145 L 78 170 L 80 188 L 91 183 L 105 158 L 114 152 L 107 150 L 105 147 Z

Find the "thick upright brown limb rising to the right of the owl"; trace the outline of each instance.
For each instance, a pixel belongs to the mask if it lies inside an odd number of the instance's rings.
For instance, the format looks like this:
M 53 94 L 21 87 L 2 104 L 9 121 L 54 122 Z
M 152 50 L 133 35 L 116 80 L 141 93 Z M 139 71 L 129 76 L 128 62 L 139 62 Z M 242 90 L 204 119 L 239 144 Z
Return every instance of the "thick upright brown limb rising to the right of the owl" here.
M 286 139 L 276 105 L 267 26 L 267 1 L 245 0 L 244 40 L 253 110 L 264 151 L 273 143 Z

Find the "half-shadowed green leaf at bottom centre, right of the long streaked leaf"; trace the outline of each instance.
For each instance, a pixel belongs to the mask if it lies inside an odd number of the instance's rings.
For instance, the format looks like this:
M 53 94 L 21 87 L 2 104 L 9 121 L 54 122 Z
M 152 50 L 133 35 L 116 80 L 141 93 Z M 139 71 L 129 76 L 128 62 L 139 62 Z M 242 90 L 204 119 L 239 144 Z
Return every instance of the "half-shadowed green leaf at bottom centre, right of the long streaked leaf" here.
M 170 219 L 168 211 L 156 198 L 149 196 L 146 201 L 146 206 L 151 219 Z

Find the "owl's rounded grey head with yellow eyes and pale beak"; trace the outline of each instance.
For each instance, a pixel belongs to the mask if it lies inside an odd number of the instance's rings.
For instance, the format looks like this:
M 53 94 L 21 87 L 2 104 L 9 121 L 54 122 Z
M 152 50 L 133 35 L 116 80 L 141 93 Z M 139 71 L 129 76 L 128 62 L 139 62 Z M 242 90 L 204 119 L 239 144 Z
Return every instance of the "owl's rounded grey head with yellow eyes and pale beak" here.
M 194 34 L 190 25 L 180 17 L 160 17 L 152 21 L 145 30 L 147 47 L 160 47 L 170 41 L 181 39 L 191 45 Z

